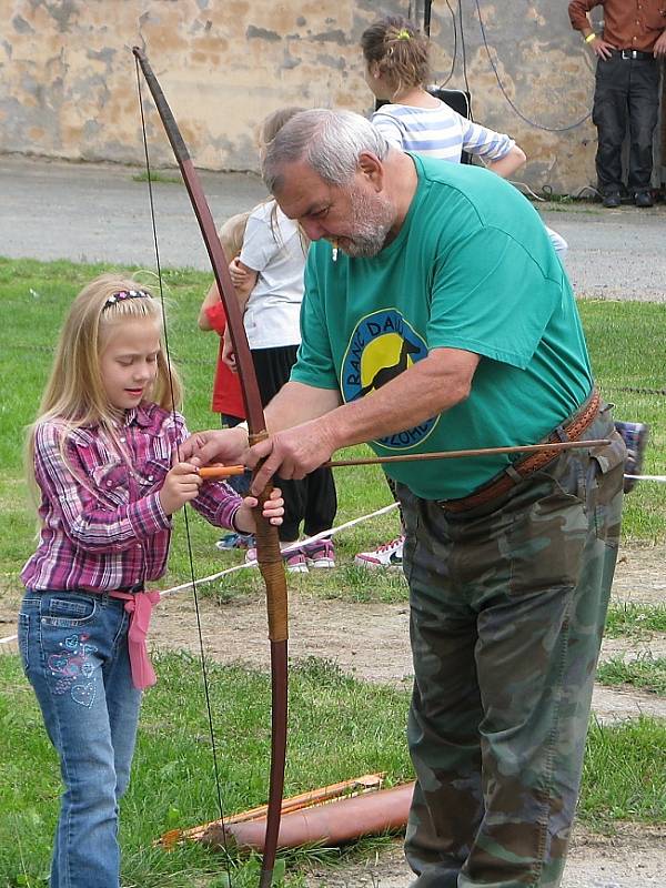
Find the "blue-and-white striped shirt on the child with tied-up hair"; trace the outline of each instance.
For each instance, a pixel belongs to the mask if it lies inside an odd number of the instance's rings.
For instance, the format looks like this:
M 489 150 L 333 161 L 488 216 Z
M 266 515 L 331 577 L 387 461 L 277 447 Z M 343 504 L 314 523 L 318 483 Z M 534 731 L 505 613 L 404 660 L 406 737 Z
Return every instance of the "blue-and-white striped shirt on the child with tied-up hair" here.
M 437 108 L 384 104 L 372 122 L 393 148 L 454 163 L 460 163 L 463 151 L 486 161 L 501 160 L 515 145 L 508 135 L 467 120 L 442 101 Z

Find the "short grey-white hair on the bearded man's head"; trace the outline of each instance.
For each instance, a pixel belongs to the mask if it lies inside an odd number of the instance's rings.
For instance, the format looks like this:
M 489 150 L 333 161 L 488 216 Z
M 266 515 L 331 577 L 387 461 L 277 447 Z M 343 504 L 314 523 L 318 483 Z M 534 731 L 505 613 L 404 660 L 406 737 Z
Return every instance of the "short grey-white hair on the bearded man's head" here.
M 305 161 L 332 185 L 345 185 L 357 170 L 364 152 L 384 160 L 389 142 L 372 123 L 352 111 L 314 108 L 287 121 L 266 147 L 261 173 L 271 193 L 282 185 L 282 170 Z

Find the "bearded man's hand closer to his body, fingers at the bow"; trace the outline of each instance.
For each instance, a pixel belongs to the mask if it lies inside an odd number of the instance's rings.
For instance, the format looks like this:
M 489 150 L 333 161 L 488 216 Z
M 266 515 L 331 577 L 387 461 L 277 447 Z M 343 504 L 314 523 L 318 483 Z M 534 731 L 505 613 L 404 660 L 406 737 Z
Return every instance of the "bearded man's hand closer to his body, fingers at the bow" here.
M 304 478 L 330 460 L 334 450 L 325 417 L 276 432 L 250 447 L 245 454 L 245 465 L 250 468 L 265 457 L 251 492 L 258 496 L 273 475 L 295 481 Z

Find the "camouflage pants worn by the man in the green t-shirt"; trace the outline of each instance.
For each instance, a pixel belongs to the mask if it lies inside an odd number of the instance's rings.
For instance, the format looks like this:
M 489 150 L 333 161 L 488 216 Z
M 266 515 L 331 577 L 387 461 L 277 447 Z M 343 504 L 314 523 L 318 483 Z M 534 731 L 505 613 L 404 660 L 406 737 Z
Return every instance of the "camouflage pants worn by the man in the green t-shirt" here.
M 556 888 L 619 535 L 625 447 L 587 438 L 463 514 L 398 486 L 407 541 L 414 888 Z

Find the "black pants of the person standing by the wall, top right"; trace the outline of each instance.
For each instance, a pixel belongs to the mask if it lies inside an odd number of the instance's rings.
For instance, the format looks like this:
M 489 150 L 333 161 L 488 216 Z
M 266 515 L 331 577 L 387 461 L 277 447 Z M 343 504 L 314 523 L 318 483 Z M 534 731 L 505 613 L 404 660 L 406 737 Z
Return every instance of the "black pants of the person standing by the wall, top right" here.
M 604 194 L 622 189 L 622 143 L 629 124 L 628 190 L 647 191 L 653 137 L 659 110 L 659 67 L 655 59 L 599 59 L 592 120 L 598 131 L 596 170 Z

